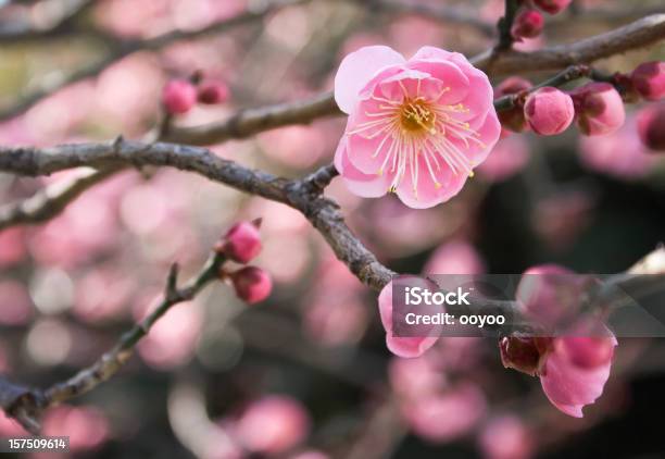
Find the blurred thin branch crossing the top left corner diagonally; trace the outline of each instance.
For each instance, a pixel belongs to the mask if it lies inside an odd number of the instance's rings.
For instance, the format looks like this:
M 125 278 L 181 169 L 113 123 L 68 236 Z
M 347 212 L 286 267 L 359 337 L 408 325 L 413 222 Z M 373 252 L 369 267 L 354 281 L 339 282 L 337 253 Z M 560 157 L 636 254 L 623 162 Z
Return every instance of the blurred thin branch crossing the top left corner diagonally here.
M 156 51 L 171 45 L 174 41 L 193 40 L 224 33 L 230 28 L 261 20 L 280 8 L 303 3 L 306 1 L 309 0 L 276 0 L 268 3 L 268 5 L 263 10 L 250 11 L 238 16 L 231 17 L 229 20 L 219 21 L 199 30 L 175 30 L 147 40 L 113 41 L 111 37 L 106 37 L 106 44 L 111 45 L 112 47 L 111 52 L 106 57 L 104 57 L 98 62 L 79 69 L 78 71 L 67 76 L 64 76 L 63 78 L 49 79 L 48 82 L 43 82 L 42 85 L 38 89 L 34 90 L 32 94 L 23 97 L 13 106 L 0 110 L 0 121 L 23 113 L 25 110 L 29 109 L 45 97 L 48 97 L 66 86 L 97 76 L 100 72 L 111 66 L 113 63 L 134 52 Z

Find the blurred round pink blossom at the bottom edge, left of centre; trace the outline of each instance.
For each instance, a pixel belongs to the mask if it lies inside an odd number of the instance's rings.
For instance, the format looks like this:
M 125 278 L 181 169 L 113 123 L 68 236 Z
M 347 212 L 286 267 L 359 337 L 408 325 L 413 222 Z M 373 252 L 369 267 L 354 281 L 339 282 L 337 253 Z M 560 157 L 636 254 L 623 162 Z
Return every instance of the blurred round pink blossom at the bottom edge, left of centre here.
M 253 401 L 237 424 L 240 443 L 252 452 L 277 455 L 301 443 L 310 431 L 302 404 L 286 395 Z

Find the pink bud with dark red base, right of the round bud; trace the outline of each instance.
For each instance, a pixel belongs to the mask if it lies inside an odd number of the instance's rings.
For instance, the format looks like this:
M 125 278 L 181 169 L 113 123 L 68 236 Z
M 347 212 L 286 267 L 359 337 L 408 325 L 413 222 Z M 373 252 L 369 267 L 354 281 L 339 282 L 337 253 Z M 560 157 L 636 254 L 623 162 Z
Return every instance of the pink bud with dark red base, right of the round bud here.
M 589 83 L 570 91 L 570 97 L 577 126 L 585 135 L 613 133 L 626 121 L 622 96 L 608 83 Z

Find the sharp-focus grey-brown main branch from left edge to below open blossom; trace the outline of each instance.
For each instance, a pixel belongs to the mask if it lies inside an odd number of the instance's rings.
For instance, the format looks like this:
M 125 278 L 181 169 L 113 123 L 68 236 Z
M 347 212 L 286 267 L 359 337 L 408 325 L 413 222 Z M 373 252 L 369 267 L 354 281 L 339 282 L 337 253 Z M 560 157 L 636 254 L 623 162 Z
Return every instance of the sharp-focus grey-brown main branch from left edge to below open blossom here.
M 243 168 L 204 148 L 174 144 L 118 139 L 106 144 L 64 145 L 45 149 L 0 147 L 0 171 L 21 175 L 45 175 L 78 166 L 123 165 L 173 166 L 286 203 L 308 218 L 337 257 L 366 285 L 380 289 L 393 274 L 357 240 L 344 223 L 337 203 L 321 196 L 322 188 L 337 175 L 331 165 L 304 179 L 292 181 Z

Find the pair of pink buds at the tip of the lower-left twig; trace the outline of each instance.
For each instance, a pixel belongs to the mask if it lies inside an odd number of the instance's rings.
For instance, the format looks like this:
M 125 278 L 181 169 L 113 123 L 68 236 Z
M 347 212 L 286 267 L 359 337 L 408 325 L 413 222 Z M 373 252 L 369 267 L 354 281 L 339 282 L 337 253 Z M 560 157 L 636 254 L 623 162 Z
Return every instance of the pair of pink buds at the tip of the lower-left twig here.
M 215 245 L 215 251 L 237 263 L 249 263 L 261 252 L 260 226 L 261 219 L 236 223 Z M 231 272 L 223 266 L 219 278 L 230 281 L 238 298 L 249 305 L 263 301 L 273 289 L 271 275 L 256 266 L 243 266 Z

